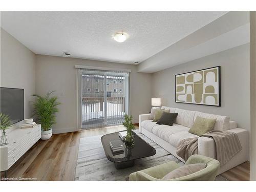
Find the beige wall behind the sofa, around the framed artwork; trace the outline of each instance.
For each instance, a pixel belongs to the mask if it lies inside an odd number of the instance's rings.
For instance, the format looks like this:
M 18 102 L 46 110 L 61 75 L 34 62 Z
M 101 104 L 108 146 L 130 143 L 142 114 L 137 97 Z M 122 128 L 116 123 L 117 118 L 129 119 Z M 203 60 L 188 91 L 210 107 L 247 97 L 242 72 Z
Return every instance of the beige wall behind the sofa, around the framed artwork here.
M 171 59 L 171 58 L 170 58 Z M 221 107 L 175 102 L 175 75 L 221 66 Z M 162 105 L 229 116 L 250 130 L 250 47 L 245 44 L 159 71 L 152 75 L 152 97 Z

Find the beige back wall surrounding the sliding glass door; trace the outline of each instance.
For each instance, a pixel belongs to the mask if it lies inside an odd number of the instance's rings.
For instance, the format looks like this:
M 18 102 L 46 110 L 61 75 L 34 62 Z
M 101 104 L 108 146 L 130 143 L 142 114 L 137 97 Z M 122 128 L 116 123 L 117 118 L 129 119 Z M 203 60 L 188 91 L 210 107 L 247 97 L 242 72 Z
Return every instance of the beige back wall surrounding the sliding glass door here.
M 68 57 L 36 55 L 36 93 L 46 94 L 56 90 L 62 103 L 59 105 L 54 133 L 76 130 L 76 70 L 75 65 L 106 67 L 110 69 L 131 69 L 131 115 L 134 122 L 139 114 L 151 109 L 151 74 L 137 73 L 137 66 Z M 63 94 L 61 94 L 63 93 Z

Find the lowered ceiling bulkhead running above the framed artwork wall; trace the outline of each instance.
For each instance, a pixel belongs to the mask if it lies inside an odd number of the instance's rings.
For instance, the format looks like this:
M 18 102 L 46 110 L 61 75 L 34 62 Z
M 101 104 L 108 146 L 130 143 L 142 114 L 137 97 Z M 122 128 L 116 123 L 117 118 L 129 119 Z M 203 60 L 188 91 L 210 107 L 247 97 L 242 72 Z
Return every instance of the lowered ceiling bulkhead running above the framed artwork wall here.
M 181 63 L 248 44 L 250 42 L 248 11 L 231 11 L 191 33 L 175 44 L 144 60 L 139 72 L 154 73 Z M 216 65 L 219 65 L 218 63 Z

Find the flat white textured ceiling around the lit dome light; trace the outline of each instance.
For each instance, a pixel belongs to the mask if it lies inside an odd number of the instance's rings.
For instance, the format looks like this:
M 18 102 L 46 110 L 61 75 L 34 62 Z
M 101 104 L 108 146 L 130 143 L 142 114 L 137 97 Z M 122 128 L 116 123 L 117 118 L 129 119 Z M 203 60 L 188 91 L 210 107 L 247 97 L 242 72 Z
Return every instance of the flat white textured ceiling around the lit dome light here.
M 36 54 L 134 63 L 227 12 L 1 12 L 1 26 Z M 129 38 L 118 43 L 115 32 Z

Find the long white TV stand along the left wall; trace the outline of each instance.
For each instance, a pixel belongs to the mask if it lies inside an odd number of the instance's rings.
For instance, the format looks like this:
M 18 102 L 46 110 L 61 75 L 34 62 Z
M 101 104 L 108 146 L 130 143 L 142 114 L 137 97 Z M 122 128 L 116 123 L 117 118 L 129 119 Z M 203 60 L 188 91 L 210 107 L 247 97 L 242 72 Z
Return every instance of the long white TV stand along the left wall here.
M 7 145 L 0 146 L 0 171 L 7 170 L 41 138 L 41 125 L 33 128 L 11 128 L 7 132 Z

